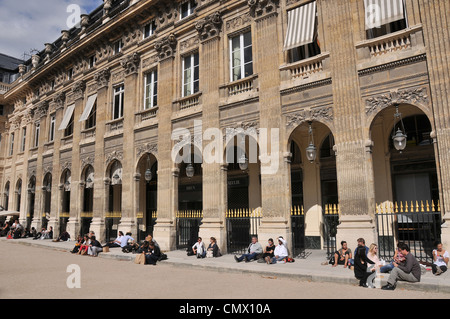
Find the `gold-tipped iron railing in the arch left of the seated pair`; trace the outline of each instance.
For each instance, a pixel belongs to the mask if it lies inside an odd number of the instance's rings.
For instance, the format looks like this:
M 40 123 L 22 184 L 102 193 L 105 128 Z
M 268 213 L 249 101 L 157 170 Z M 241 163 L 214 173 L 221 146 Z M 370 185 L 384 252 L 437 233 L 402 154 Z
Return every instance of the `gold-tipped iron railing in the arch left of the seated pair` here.
M 203 211 L 201 210 L 177 212 L 177 249 L 190 248 L 194 245 L 198 238 L 202 219 Z

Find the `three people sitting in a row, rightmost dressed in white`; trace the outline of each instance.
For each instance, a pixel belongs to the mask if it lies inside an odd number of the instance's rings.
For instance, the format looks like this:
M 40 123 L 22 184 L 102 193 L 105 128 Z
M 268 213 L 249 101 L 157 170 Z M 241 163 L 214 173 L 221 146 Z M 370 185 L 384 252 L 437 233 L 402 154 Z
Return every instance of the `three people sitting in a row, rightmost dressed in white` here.
M 252 242 L 247 248 L 247 252 L 240 257 L 234 256 L 236 262 L 249 262 L 257 260 L 261 263 L 276 264 L 293 262 L 294 259 L 289 257 L 287 242 L 283 237 L 278 237 L 278 245 L 275 246 L 272 238 L 269 238 L 266 248 L 263 250 L 256 236 L 252 237 Z

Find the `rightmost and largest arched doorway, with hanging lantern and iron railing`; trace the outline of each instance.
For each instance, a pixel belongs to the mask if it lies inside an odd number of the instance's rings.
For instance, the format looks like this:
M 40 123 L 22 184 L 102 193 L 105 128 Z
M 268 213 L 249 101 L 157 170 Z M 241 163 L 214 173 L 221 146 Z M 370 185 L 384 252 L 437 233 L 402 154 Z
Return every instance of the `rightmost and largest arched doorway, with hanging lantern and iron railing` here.
M 400 131 L 404 149 L 393 141 Z M 380 111 L 370 127 L 380 256 L 390 258 L 397 242 L 421 261 L 432 262 L 440 240 L 439 182 L 433 125 L 419 107 L 397 104 Z

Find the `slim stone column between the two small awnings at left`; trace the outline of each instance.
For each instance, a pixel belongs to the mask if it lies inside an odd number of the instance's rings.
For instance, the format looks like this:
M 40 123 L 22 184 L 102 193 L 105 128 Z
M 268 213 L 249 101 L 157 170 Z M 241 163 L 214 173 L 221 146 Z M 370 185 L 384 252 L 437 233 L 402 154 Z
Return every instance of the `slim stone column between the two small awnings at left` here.
M 80 212 L 82 209 L 82 202 L 80 201 L 81 180 L 81 159 L 80 159 L 80 139 L 81 139 L 81 123 L 79 118 L 83 113 L 85 107 L 84 91 L 86 83 L 79 81 L 72 87 L 73 100 L 75 109 L 73 111 L 73 134 L 72 134 L 72 167 L 71 167 L 71 185 L 70 185 L 70 218 L 67 223 L 67 232 L 72 239 L 80 232 Z

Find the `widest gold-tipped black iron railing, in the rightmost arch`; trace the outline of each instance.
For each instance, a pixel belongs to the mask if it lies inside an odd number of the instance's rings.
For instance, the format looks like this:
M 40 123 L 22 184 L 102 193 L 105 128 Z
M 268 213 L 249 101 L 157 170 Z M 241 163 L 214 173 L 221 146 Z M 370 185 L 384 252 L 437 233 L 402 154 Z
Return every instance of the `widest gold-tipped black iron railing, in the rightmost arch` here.
M 439 201 L 380 204 L 375 216 L 380 258 L 391 260 L 397 244 L 403 242 L 419 262 L 433 262 L 432 251 L 441 239 Z

